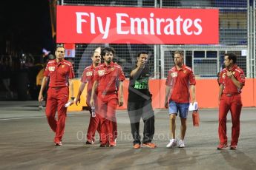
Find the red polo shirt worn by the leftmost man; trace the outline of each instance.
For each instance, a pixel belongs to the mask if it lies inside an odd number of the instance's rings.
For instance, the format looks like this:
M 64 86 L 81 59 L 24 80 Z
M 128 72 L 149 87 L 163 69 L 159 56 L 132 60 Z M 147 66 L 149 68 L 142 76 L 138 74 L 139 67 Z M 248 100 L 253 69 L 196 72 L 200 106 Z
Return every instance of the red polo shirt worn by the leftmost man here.
M 50 60 L 44 75 L 50 77 L 50 87 L 68 86 L 68 79 L 75 77 L 72 64 L 66 60 L 59 63 L 56 60 Z

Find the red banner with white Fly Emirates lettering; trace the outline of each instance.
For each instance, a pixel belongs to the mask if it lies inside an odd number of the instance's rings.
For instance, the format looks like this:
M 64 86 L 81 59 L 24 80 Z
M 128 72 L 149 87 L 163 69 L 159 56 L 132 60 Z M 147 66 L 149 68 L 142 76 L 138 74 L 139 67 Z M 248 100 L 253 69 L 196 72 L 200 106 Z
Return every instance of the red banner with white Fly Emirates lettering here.
M 219 10 L 57 6 L 58 43 L 219 44 Z

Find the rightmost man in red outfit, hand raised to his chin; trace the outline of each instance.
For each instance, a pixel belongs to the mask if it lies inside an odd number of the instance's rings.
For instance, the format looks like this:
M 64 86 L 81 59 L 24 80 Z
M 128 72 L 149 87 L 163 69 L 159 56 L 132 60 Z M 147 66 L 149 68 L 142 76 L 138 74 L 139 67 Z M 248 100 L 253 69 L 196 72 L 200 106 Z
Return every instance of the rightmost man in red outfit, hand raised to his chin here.
M 245 84 L 243 69 L 236 65 L 237 56 L 233 53 L 224 55 L 224 68 L 220 72 L 220 91 L 219 91 L 219 139 L 220 144 L 217 149 L 228 147 L 226 136 L 226 115 L 229 110 L 232 117 L 232 140 L 230 149 L 237 149 L 238 137 L 240 134 L 240 113 L 242 109 L 241 89 Z

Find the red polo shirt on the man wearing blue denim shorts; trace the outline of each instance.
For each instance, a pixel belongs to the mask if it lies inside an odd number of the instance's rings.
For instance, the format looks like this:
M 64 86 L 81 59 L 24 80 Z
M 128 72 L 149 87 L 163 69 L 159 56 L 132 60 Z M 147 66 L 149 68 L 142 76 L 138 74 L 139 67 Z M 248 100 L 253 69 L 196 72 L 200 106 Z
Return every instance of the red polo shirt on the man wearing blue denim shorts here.
M 194 73 L 190 67 L 183 65 L 180 70 L 172 67 L 168 71 L 166 86 L 171 86 L 169 101 L 189 103 L 189 85 L 195 85 Z

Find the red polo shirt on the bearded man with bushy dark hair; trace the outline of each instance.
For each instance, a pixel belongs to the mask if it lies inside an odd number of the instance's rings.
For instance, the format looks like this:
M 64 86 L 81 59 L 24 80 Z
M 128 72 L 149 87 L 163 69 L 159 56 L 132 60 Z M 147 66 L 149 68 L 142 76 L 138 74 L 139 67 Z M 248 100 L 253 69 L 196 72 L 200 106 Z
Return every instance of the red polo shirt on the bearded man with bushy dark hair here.
M 118 64 L 104 63 L 96 67 L 94 80 L 99 81 L 98 92 L 111 94 L 118 90 L 118 83 L 125 80 L 125 75 Z

